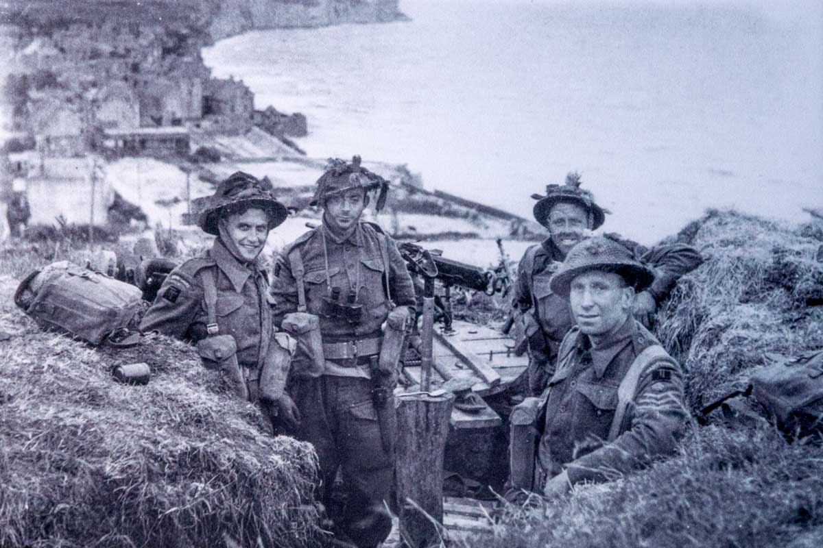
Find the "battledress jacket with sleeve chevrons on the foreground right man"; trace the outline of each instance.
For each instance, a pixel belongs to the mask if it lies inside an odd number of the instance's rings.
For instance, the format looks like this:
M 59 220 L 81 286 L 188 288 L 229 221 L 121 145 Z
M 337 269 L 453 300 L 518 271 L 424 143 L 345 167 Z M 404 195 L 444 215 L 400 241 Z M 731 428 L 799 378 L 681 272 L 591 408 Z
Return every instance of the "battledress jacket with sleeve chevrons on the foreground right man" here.
M 615 416 L 617 389 L 653 334 L 632 317 L 597 348 L 578 328 L 560 346 L 549 380 L 545 421 L 538 448 L 544 481 L 564 469 L 571 483 L 605 481 L 650 459 L 672 454 L 686 425 L 683 375 L 676 361 L 652 361 L 640 375 L 635 398 L 619 435 L 604 444 Z

